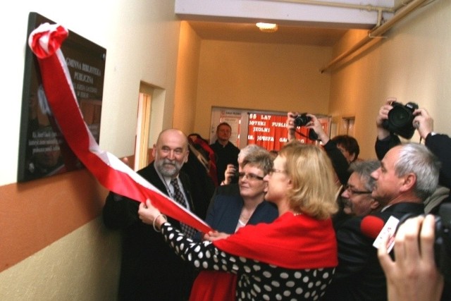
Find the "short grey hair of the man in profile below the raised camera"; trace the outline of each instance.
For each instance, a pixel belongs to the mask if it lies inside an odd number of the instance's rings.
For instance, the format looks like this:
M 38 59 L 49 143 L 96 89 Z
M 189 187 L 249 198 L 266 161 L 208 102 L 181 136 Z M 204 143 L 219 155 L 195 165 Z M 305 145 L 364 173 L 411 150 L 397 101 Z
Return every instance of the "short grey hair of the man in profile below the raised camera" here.
M 416 175 L 414 192 L 424 200 L 437 189 L 440 161 L 426 146 L 406 143 L 401 146 L 395 171 L 400 177 L 414 173 Z

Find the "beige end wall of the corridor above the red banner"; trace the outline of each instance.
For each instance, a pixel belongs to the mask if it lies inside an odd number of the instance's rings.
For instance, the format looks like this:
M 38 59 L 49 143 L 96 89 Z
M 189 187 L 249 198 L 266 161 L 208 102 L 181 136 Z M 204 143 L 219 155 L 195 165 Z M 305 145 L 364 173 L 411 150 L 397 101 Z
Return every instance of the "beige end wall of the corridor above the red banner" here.
M 209 137 L 211 106 L 328 113 L 330 47 L 202 40 L 194 130 Z

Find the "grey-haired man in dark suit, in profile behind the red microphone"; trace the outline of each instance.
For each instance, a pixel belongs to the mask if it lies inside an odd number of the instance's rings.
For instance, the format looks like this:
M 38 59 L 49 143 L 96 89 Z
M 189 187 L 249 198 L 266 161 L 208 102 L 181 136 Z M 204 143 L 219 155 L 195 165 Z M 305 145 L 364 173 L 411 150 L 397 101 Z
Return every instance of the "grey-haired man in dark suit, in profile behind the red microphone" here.
M 440 164 L 424 145 L 408 143 L 390 149 L 381 167 L 371 173 L 376 181 L 371 196 L 381 212 L 371 214 L 384 223 L 390 216 L 424 214 L 423 201 L 438 183 Z M 374 238 L 362 233 L 364 216 L 353 217 L 336 229 L 338 266 L 325 300 L 387 300 L 385 275 L 378 262 Z M 378 229 L 381 230 L 381 229 Z

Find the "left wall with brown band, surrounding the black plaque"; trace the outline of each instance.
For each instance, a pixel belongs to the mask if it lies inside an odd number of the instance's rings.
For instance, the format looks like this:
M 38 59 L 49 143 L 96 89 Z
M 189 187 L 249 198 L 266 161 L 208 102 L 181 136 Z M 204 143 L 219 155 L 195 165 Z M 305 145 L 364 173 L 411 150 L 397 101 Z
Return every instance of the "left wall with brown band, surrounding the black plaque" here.
M 156 87 L 153 128 L 172 126 L 180 21 L 173 0 L 25 0 L 0 25 L 0 300 L 114 300 L 118 233 L 99 215 L 106 192 L 78 171 L 16 183 L 27 19 L 35 11 L 107 49 L 100 147 L 135 148 L 142 82 Z M 4 44 L 5 44 L 4 43 Z

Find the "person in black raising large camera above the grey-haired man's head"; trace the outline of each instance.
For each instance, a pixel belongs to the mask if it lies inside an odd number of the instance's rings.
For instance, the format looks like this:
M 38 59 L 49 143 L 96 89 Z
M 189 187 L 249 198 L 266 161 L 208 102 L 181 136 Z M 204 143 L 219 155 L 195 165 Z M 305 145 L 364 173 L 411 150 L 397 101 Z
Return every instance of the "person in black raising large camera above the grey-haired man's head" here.
M 406 124 L 401 127 L 400 132 L 397 128 L 389 127 L 387 121 L 390 119 L 389 112 L 393 109 L 393 104 L 402 105 L 395 101 L 395 98 L 387 99 L 385 104 L 381 106 L 376 118 L 378 132 L 375 145 L 376 155 L 378 159 L 382 159 L 388 149 L 400 145 L 401 141 L 397 133 L 404 133 L 405 128 L 409 128 L 409 131 L 418 130 L 421 140 L 424 140 L 424 145 L 431 149 L 431 152 L 438 157 L 442 164 L 438 189 L 430 199 L 426 200 L 426 213 L 437 214 L 440 204 L 451 202 L 449 196 L 449 189 L 451 188 L 451 138 L 448 135 L 433 132 L 433 118 L 425 109 L 414 109 L 411 118 L 406 119 Z

